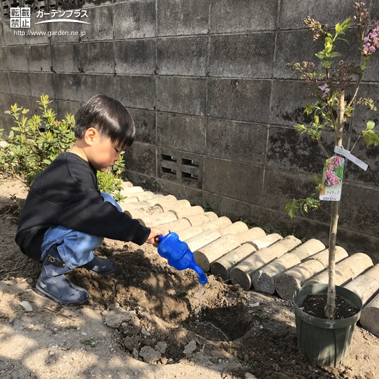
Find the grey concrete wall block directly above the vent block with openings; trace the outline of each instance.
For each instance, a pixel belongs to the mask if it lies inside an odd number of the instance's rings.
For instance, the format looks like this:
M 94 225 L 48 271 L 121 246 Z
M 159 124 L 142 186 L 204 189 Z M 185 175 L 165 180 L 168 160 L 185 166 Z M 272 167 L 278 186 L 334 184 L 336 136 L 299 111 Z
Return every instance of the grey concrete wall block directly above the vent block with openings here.
M 204 154 L 204 117 L 158 112 L 156 124 L 158 145 Z

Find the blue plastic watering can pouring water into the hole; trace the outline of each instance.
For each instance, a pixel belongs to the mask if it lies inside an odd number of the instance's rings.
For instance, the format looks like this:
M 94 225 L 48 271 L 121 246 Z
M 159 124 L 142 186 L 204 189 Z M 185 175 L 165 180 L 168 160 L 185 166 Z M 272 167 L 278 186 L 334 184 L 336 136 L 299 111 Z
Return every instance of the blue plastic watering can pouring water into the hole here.
M 178 270 L 193 269 L 198 274 L 198 282 L 205 285 L 208 281 L 201 267 L 195 262 L 194 254 L 187 243 L 179 239 L 178 234 L 171 232 L 166 236 L 158 236 L 158 254 L 168 260 L 168 264 Z

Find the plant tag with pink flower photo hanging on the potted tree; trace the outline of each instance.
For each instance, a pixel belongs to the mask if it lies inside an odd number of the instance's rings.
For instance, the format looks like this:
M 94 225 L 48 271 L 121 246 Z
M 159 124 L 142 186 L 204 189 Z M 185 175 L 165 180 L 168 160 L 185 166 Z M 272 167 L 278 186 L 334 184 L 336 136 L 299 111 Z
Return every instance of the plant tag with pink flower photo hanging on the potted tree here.
M 320 189 L 320 200 L 340 201 L 345 159 L 334 155 L 325 161 Z

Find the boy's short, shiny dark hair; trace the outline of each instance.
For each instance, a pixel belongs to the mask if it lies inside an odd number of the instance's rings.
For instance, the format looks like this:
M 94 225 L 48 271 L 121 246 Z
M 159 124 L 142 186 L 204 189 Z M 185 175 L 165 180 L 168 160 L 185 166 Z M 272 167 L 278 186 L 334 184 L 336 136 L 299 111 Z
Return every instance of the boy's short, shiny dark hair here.
M 109 137 L 120 150 L 132 145 L 136 133 L 132 116 L 123 104 L 102 94 L 92 96 L 75 114 L 76 138 L 83 138 L 90 127 Z

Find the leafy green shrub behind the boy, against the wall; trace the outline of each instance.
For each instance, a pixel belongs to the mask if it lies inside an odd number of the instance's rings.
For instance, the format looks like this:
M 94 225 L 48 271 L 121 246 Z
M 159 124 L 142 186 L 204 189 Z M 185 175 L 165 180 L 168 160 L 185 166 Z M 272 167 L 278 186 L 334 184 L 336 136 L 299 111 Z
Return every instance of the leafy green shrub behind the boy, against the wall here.
M 0 130 L 0 170 L 19 178 L 26 187 L 30 187 L 58 154 L 70 150 L 75 141 L 72 130 L 74 116 L 66 114 L 65 119 L 57 120 L 57 114 L 48 107 L 51 103 L 48 95 L 42 95 L 37 103 L 42 114 L 34 114 L 30 118 L 26 116 L 28 109 L 11 105 L 6 114 L 14 117 L 16 126 L 12 127 L 6 139 L 3 139 L 3 129 Z M 112 194 L 117 201 L 122 199 L 120 176 L 124 168 L 121 155 L 112 170 L 98 172 L 99 189 Z

